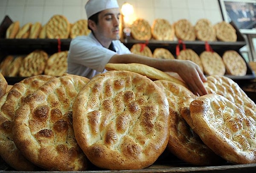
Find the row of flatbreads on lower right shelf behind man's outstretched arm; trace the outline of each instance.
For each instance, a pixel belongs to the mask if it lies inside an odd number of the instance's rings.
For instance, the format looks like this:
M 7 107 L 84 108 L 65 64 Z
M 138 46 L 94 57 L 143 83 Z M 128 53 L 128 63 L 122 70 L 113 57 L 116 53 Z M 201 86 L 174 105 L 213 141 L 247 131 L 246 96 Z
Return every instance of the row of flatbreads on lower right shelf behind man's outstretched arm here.
M 137 43 L 131 47 L 133 54 L 144 55 L 159 59 L 190 60 L 195 62 L 205 75 L 233 75 L 247 74 L 247 65 L 243 57 L 234 50 L 224 51 L 222 57 L 215 51 L 202 51 L 199 55 L 190 48 L 181 50 L 174 56 L 166 48 L 155 48 L 153 53 L 148 45 Z

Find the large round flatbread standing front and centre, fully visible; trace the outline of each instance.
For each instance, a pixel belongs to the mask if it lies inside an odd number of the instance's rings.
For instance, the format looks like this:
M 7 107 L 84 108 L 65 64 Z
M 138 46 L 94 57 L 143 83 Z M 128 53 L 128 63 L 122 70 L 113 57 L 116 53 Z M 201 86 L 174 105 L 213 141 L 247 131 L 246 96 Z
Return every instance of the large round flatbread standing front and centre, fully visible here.
M 166 96 L 150 79 L 108 71 L 91 79 L 73 104 L 75 136 L 87 158 L 109 170 L 153 164 L 169 138 Z

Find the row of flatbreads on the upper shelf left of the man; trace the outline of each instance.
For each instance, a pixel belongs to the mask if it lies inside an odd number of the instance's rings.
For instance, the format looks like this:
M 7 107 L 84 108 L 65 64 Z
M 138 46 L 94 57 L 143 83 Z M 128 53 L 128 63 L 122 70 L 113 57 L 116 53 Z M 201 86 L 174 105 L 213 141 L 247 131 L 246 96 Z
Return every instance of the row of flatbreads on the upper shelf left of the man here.
M 7 39 L 67 39 L 88 35 L 87 20 L 77 20 L 70 23 L 64 15 L 52 16 L 45 25 L 40 22 L 26 23 L 20 27 L 20 22 L 13 22 L 6 30 Z

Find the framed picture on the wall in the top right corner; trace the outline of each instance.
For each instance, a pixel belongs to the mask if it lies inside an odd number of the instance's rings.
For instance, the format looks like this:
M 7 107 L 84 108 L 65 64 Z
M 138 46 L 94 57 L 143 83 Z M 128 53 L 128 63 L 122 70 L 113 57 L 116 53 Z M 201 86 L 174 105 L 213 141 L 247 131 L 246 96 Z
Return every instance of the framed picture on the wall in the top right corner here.
M 255 0 L 219 0 L 222 18 L 233 21 L 243 34 L 256 34 Z

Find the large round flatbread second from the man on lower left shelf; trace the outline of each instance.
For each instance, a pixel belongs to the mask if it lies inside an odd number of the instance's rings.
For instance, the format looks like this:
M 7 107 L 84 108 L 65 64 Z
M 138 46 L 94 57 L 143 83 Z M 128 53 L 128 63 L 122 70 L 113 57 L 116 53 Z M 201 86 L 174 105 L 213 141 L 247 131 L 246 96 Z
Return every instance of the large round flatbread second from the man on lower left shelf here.
M 35 50 L 28 54 L 20 67 L 21 77 L 30 77 L 43 74 L 48 60 L 48 54 L 42 50 Z

